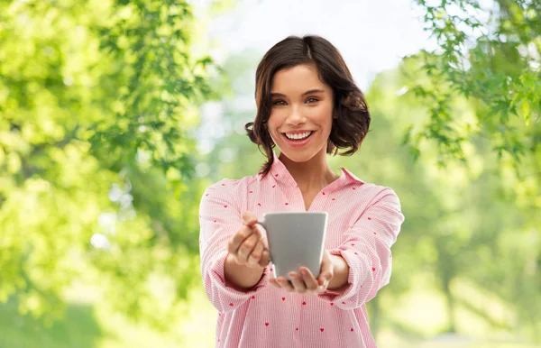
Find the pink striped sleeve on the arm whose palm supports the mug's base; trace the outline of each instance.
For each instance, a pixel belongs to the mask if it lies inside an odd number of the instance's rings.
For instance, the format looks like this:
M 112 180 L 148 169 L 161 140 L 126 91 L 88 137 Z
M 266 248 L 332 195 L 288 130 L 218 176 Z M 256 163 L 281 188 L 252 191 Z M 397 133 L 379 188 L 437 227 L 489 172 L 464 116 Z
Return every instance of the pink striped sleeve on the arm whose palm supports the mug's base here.
M 396 242 L 403 222 L 399 197 L 391 188 L 384 188 L 345 231 L 343 243 L 329 251 L 347 262 L 347 287 L 341 292 L 326 291 L 318 297 L 343 309 L 361 307 L 374 298 L 389 284 L 390 247 Z

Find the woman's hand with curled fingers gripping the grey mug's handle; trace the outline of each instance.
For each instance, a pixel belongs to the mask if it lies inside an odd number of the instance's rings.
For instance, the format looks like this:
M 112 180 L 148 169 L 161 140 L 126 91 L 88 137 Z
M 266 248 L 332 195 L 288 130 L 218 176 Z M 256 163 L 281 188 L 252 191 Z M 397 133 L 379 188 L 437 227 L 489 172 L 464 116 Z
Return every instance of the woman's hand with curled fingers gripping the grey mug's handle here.
M 243 226 L 230 239 L 227 250 L 239 265 L 265 268 L 271 261 L 269 244 L 263 236 L 263 227 L 250 212 L 243 214 Z

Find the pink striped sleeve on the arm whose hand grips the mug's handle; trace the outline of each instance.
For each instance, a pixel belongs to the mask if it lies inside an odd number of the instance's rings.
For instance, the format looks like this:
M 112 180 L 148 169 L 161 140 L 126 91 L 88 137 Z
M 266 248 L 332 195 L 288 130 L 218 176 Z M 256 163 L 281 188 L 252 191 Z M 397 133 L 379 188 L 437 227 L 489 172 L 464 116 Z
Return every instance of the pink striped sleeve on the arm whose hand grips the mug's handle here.
M 229 287 L 225 281 L 225 258 L 229 238 L 243 225 L 245 195 L 242 181 L 222 180 L 207 188 L 199 206 L 199 255 L 206 296 L 220 313 L 233 311 L 264 286 L 268 270 L 250 291 Z

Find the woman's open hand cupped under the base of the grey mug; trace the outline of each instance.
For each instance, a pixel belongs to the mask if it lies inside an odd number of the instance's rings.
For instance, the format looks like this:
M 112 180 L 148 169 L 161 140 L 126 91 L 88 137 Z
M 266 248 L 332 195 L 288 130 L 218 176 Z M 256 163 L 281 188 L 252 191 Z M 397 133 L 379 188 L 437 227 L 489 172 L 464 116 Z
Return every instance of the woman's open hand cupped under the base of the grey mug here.
M 329 286 L 329 282 L 333 279 L 334 265 L 331 259 L 331 254 L 328 251 L 323 252 L 321 261 L 321 270 L 319 277 L 314 278 L 312 272 L 307 267 L 301 267 L 298 272 L 289 272 L 289 279 L 278 277 L 271 279 L 269 282 L 275 288 L 283 288 L 288 292 L 296 292 L 304 295 L 315 295 L 322 293 Z

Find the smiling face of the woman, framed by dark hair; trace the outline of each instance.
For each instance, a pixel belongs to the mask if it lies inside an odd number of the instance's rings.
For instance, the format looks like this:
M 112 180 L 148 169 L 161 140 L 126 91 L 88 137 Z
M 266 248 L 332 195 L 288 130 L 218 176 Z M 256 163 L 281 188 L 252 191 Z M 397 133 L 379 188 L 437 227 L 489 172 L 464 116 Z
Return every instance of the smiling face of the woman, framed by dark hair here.
M 315 68 L 298 65 L 274 74 L 268 129 L 289 160 L 305 162 L 326 153 L 333 125 L 333 90 Z

